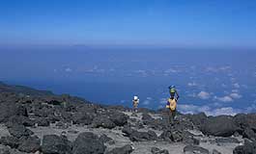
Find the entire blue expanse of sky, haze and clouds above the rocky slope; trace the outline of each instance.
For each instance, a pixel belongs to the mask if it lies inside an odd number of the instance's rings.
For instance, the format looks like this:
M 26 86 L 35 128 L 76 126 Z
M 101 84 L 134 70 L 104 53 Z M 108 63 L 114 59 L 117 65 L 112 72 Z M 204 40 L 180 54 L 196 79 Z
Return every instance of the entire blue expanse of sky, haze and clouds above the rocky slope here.
M 256 112 L 253 0 L 0 0 L 0 81 L 182 113 Z

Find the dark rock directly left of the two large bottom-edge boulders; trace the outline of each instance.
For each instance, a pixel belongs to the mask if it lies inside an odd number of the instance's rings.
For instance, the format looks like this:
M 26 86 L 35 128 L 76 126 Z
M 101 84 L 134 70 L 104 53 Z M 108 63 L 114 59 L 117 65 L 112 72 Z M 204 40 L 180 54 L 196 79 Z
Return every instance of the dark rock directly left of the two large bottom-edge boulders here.
M 29 137 L 21 140 L 17 149 L 22 152 L 34 153 L 40 149 L 40 139 L 36 137 Z

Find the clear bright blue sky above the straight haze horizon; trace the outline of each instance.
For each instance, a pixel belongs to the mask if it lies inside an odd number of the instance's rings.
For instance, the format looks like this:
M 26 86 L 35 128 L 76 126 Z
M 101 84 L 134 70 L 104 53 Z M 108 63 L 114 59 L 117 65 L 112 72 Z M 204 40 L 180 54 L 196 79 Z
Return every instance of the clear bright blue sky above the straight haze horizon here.
M 253 0 L 1 0 L 0 44 L 256 45 Z

